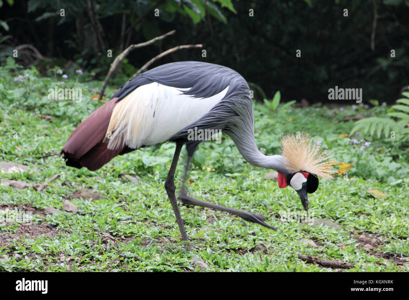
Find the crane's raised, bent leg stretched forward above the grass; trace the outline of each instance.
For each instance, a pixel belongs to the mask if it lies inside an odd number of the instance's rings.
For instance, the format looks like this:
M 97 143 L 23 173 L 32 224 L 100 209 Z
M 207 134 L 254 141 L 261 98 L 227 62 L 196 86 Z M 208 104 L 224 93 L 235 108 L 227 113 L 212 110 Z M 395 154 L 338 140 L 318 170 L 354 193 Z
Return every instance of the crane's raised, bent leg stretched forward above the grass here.
M 191 198 L 189 196 L 187 196 L 186 193 L 186 181 L 187 181 L 187 173 L 189 171 L 189 167 L 190 167 L 190 160 L 191 160 L 191 156 L 188 155 L 187 157 L 187 163 L 184 169 L 184 174 L 183 174 L 183 182 L 182 182 L 182 190 L 180 191 L 180 196 L 178 197 L 178 199 L 180 199 L 182 201 L 183 204 L 187 204 L 187 205 L 198 205 L 198 206 L 202 206 L 202 207 L 209 207 L 212 209 L 218 209 L 221 211 L 227 211 L 228 213 L 232 213 L 236 216 L 239 216 L 240 218 L 243 218 L 244 220 L 253 222 L 253 223 L 257 223 L 257 224 L 261 224 L 264 227 L 270 228 L 270 229 L 274 229 L 276 230 L 275 227 L 272 227 L 268 224 L 266 224 L 265 222 L 263 222 L 265 220 L 264 216 L 258 215 L 256 213 L 252 213 L 250 211 L 240 211 L 238 209 L 233 209 L 230 207 L 225 207 L 219 204 L 214 204 L 211 202 L 207 202 L 207 201 L 203 201 L 203 200 L 198 200 L 195 198 Z

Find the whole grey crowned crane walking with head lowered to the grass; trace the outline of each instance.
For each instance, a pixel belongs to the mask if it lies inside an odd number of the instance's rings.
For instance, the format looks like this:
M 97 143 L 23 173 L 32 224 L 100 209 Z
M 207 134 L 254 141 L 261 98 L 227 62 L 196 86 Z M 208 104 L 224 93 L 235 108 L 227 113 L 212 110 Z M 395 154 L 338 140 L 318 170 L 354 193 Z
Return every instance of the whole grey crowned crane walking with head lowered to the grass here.
M 290 185 L 308 210 L 307 193 L 318 187 L 318 178 L 330 179 L 329 156 L 310 136 L 284 136 L 282 155 L 265 156 L 254 140 L 253 103 L 247 82 L 227 67 L 205 62 L 174 62 L 142 73 L 127 82 L 112 98 L 95 110 L 74 130 L 61 153 L 67 166 L 101 168 L 113 157 L 166 141 L 176 143 L 166 193 L 171 201 L 182 239 L 188 236 L 175 197 L 174 176 L 180 150 L 186 144 L 187 163 L 179 199 L 184 204 L 227 211 L 267 225 L 261 215 L 231 209 L 187 196 L 185 182 L 194 151 L 202 140 L 191 140 L 189 132 L 218 130 L 228 134 L 250 164 L 279 172 L 278 184 Z M 213 131 L 214 132 L 214 131 Z

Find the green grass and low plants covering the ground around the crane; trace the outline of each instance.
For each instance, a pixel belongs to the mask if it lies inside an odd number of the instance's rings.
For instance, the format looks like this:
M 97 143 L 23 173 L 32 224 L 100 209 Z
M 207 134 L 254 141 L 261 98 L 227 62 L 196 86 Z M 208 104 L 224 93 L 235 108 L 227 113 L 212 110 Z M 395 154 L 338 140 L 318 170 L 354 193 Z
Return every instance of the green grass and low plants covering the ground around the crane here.
M 279 154 L 283 133 L 307 131 L 321 138 L 337 161 L 351 164 L 348 176 L 321 180 L 317 192 L 309 195 L 315 218 L 336 222 L 342 229 L 281 220 L 283 211 L 302 209 L 297 193 L 264 179 L 270 170 L 245 162 L 230 138 L 222 135 L 221 144 L 206 142 L 199 147 L 190 175 L 193 182 L 188 184 L 190 196 L 262 214 L 277 231 L 224 212 L 181 205 L 191 238 L 182 242 L 164 190 L 174 144 L 118 156 L 95 172 L 66 167 L 59 157 L 61 147 L 80 120 L 100 103 L 89 100 L 92 93 L 83 91 L 83 103 L 60 100 L 62 104 L 57 103 L 53 114 L 35 84 L 30 96 L 23 94 L 27 97 L 22 98 L 11 95 L 18 83 L 2 84 L 6 92 L 0 91 L 0 161 L 25 164 L 29 169 L 2 172 L 0 177 L 31 184 L 43 183 L 57 173 L 61 177 L 43 191 L 0 186 L 0 209 L 31 209 L 34 214 L 30 226 L 0 222 L 0 270 L 198 271 L 190 262 L 198 255 L 208 264 L 207 271 L 339 271 L 299 260 L 298 255 L 305 254 L 355 264 L 346 271 L 409 271 L 409 168 L 407 151 L 402 150 L 407 146 L 360 136 L 372 142 L 360 151 L 347 143 L 353 137 L 339 136 L 353 127 L 353 121 L 343 122 L 344 116 L 371 116 L 387 108 L 287 107 L 280 111 L 279 107 L 273 112 L 255 105 L 256 141 L 265 154 Z M 32 107 L 40 99 L 44 111 L 37 108 L 36 113 L 50 114 L 52 121 L 33 115 Z M 68 106 L 74 107 L 71 115 L 58 109 Z M 182 150 L 177 190 L 185 158 Z M 122 178 L 122 174 L 137 177 L 139 183 Z M 83 189 L 95 189 L 103 197 L 71 199 L 79 211 L 63 211 L 69 196 Z M 389 197 L 373 198 L 366 192 L 369 189 Z M 51 216 L 44 212 L 46 207 L 63 212 Z M 107 234 L 115 240 L 103 236 Z M 317 247 L 300 244 L 303 238 L 315 241 Z M 378 238 L 374 249 L 362 247 L 371 238 Z M 259 243 L 266 251 L 254 249 Z

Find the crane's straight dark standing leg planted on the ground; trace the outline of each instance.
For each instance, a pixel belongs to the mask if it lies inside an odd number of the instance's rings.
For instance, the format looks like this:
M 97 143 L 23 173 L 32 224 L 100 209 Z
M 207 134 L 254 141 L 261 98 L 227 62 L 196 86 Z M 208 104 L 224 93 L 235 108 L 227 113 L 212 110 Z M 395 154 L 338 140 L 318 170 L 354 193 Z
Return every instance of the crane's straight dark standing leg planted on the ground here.
M 166 189 L 166 193 L 168 194 L 169 200 L 171 201 L 173 211 L 175 212 L 176 222 L 178 222 L 180 233 L 182 234 L 182 240 L 185 241 L 188 239 L 188 236 L 186 234 L 186 230 L 184 229 L 182 217 L 180 216 L 178 202 L 176 201 L 176 196 L 175 196 L 176 187 L 175 187 L 175 182 L 174 182 L 176 165 L 178 164 L 178 159 L 179 159 L 180 150 L 182 149 L 182 146 L 183 146 L 183 142 L 176 142 L 176 149 L 175 149 L 175 154 L 173 155 L 171 169 L 169 170 L 168 176 L 166 177 L 166 180 L 165 180 L 165 189 Z

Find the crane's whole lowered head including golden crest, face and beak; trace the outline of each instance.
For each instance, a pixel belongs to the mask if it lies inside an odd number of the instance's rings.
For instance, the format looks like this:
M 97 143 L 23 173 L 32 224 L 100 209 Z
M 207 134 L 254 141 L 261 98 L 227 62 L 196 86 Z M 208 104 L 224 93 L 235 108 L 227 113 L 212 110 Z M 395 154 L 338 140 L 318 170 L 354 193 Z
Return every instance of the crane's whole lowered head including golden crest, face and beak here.
M 318 176 L 332 179 L 334 171 L 330 167 L 335 161 L 326 161 L 332 157 L 321 149 L 321 142 L 312 143 L 308 133 L 286 135 L 281 138 L 281 154 L 285 158 L 285 170 L 279 172 L 278 184 L 284 188 L 290 185 L 297 191 L 301 203 L 308 211 L 308 193 L 314 193 L 318 188 Z

